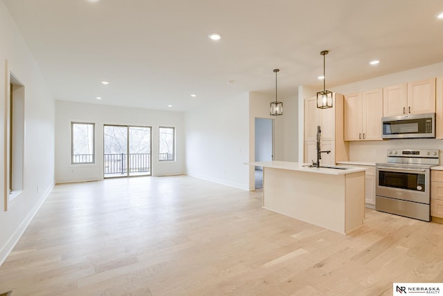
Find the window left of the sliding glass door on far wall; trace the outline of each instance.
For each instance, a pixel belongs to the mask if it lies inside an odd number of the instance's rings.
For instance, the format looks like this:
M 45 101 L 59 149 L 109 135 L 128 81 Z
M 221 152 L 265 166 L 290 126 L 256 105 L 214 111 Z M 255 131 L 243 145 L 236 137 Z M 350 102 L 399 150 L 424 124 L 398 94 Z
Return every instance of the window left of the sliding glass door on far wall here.
M 94 124 L 71 122 L 71 163 L 94 163 Z

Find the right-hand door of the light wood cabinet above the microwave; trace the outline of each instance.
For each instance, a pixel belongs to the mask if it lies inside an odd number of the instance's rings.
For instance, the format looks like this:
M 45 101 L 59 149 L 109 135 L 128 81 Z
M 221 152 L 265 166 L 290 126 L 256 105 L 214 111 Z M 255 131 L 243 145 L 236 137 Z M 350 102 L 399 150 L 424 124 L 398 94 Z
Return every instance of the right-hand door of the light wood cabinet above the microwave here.
M 407 113 L 435 113 L 435 78 L 408 83 Z

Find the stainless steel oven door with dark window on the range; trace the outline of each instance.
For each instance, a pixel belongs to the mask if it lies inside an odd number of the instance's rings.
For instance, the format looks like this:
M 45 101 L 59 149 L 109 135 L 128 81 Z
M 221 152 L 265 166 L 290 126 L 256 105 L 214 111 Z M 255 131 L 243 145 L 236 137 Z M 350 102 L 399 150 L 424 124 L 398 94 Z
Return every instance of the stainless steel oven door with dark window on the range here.
M 377 166 L 375 194 L 416 203 L 430 203 L 430 169 Z

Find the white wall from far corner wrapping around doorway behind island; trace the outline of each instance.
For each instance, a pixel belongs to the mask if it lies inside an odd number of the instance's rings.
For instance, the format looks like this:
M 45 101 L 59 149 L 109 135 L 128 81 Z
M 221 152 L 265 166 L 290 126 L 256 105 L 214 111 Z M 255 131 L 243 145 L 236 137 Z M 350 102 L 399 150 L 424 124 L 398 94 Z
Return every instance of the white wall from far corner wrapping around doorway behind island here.
M 297 100 L 286 98 L 283 115 L 269 115 L 274 98 L 242 93 L 201 109 L 186 112 L 186 172 L 224 185 L 253 190 L 255 118 L 274 120 L 274 159 L 296 159 Z M 285 126 L 287 124 L 287 126 Z

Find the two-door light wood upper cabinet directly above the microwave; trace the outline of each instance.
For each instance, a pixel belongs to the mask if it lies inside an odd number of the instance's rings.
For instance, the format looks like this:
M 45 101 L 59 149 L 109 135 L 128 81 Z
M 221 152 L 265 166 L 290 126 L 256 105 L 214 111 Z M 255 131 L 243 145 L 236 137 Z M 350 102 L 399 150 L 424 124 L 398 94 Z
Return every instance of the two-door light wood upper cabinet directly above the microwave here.
M 383 116 L 435 113 L 435 78 L 383 89 Z

